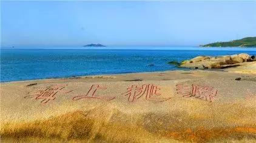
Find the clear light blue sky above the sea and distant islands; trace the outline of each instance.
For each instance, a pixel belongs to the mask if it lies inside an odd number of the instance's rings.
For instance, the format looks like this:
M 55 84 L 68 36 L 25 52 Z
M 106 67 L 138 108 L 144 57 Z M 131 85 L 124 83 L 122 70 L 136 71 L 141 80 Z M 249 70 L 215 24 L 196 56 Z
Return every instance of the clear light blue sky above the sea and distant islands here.
M 1 47 L 183 47 L 246 36 L 256 36 L 256 1 L 1 1 Z

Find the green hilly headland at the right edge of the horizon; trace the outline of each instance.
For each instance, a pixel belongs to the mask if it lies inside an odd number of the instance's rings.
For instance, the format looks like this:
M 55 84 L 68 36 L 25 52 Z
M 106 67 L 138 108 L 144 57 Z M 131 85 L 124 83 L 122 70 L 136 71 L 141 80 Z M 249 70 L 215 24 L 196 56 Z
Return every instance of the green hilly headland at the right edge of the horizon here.
M 214 42 L 201 47 L 256 47 L 256 37 L 247 37 L 229 42 Z

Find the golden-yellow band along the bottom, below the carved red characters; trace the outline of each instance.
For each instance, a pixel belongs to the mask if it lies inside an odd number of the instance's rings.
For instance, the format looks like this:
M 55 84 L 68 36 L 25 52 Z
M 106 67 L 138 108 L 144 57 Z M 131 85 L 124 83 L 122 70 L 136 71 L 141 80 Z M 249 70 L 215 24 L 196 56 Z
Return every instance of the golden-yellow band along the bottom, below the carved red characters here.
M 151 118 L 150 118 L 151 116 Z M 74 111 L 44 121 L 7 123 L 1 126 L 2 141 L 15 139 L 47 142 L 209 142 L 209 141 L 255 141 L 255 127 L 189 128 L 172 126 L 163 128 L 170 121 L 155 121 L 152 113 L 130 116 L 115 109 L 95 108 Z M 162 116 L 163 117 L 163 116 Z M 189 121 L 184 121 L 189 122 Z M 162 130 L 161 130 L 162 129 Z M 47 140 L 48 139 L 48 140 Z M 23 141 L 20 140 L 20 141 Z

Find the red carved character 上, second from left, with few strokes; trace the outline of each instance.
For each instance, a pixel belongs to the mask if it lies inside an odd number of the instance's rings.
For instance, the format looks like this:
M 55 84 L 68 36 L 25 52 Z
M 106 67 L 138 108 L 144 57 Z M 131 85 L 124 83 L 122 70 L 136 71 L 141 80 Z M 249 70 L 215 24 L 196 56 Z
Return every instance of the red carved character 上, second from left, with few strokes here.
M 83 99 L 83 98 L 94 98 L 94 99 L 103 99 L 103 100 L 107 100 L 107 101 L 110 101 L 112 99 L 115 99 L 115 97 L 104 97 L 104 96 L 98 96 L 96 95 L 96 91 L 97 90 L 106 90 L 107 88 L 102 86 L 102 85 L 99 85 L 99 84 L 93 84 L 89 91 L 87 91 L 86 94 L 84 95 L 80 95 L 80 96 L 75 96 L 73 98 L 73 101 L 77 101 L 79 99 Z

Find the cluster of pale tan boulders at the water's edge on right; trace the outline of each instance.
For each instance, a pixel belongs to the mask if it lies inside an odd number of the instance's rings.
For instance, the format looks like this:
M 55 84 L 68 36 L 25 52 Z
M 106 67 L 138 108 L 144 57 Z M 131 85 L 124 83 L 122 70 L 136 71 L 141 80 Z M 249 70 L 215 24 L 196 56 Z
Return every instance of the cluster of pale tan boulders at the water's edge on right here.
M 226 56 L 197 56 L 181 62 L 180 67 L 187 68 L 227 68 L 244 64 L 244 62 L 256 61 L 255 56 L 246 53 Z

